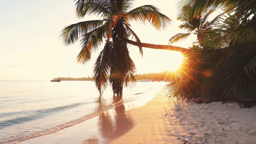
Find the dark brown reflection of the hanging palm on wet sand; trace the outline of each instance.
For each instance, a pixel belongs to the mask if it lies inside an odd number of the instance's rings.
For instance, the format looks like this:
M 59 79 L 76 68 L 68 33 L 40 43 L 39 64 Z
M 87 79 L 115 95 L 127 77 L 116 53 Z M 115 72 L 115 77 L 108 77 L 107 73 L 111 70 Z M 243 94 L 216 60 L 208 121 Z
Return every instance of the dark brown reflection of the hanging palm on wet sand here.
M 134 122 L 127 114 L 126 106 L 122 102 L 122 96 L 114 97 L 113 99 L 113 104 L 120 104 L 120 106 L 102 112 L 98 119 L 98 130 L 100 130 L 105 142 L 110 138 L 125 134 L 134 126 Z M 104 100 L 100 98 L 98 104 L 98 110 L 100 110 L 105 105 Z M 92 138 L 84 140 L 83 144 L 99 144 L 99 140 L 94 135 Z

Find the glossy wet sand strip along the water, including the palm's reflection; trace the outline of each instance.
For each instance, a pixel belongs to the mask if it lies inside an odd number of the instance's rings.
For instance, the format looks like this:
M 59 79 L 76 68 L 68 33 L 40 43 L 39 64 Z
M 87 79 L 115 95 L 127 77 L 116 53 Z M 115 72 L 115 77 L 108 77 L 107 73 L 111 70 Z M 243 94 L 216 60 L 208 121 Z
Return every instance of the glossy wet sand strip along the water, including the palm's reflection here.
M 19 144 L 106 144 L 134 128 L 135 123 L 128 110 L 144 105 L 149 99 L 147 97 L 124 104 L 122 97 L 114 97 L 113 108 L 102 112 L 109 104 L 103 97 L 97 98 L 97 110 L 102 113 L 96 117 Z

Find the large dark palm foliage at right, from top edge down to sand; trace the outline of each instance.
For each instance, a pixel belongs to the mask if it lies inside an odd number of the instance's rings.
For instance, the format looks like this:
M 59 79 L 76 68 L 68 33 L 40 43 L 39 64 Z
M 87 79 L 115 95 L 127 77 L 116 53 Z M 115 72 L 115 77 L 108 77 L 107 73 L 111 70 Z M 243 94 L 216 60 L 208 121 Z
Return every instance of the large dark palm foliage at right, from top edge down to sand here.
M 195 102 L 236 101 L 250 107 L 256 102 L 256 2 L 251 0 L 186 0 L 180 6 L 198 10 L 230 10 L 200 48 L 186 54 L 176 80 L 166 87 L 168 96 Z M 204 44 L 209 44 L 208 49 Z

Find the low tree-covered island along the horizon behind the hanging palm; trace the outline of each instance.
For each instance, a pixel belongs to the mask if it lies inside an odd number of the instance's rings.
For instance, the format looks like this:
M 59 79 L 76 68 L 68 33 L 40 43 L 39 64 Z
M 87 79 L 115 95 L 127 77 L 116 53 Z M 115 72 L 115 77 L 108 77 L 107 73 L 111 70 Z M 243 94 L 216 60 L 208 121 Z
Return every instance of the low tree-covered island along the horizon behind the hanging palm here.
M 174 72 L 165 70 L 164 72 L 160 73 L 149 73 L 149 74 L 136 74 L 136 80 L 143 80 L 143 79 L 150 79 L 150 80 L 160 80 L 160 81 L 171 81 L 174 79 Z M 84 77 L 84 78 L 53 78 L 53 80 L 62 80 L 62 81 L 89 81 L 93 80 L 93 77 Z

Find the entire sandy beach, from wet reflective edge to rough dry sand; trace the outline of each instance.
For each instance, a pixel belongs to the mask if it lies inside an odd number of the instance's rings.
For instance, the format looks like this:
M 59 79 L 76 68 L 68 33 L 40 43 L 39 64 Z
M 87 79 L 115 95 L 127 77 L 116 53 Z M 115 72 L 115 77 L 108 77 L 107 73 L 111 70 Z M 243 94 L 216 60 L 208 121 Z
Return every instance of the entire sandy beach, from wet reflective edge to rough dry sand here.
M 256 107 L 195 104 L 162 92 L 136 108 L 122 105 L 59 132 L 19 144 L 254 144 Z

